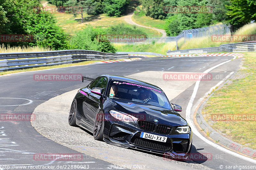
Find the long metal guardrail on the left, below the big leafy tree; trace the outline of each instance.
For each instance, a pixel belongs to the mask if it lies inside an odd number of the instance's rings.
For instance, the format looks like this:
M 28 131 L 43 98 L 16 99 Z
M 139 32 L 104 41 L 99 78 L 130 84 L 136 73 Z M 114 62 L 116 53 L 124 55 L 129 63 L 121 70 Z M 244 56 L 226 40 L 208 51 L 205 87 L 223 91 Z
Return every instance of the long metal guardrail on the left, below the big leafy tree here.
M 128 54 L 103 53 L 89 50 L 0 53 L 0 71 L 75 63 L 86 60 L 111 60 L 126 58 L 129 58 Z

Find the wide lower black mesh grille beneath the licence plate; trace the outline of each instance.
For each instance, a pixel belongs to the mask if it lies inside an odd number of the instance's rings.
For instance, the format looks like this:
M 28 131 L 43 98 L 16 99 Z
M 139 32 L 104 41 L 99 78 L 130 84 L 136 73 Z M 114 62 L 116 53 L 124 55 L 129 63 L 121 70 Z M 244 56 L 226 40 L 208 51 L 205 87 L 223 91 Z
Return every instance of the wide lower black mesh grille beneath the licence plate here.
M 167 142 L 157 142 L 149 139 L 144 139 L 141 137 L 133 137 L 131 140 L 132 144 L 147 148 L 147 149 L 152 149 L 156 151 L 163 151 L 163 152 L 169 152 L 171 151 L 172 147 L 171 144 Z

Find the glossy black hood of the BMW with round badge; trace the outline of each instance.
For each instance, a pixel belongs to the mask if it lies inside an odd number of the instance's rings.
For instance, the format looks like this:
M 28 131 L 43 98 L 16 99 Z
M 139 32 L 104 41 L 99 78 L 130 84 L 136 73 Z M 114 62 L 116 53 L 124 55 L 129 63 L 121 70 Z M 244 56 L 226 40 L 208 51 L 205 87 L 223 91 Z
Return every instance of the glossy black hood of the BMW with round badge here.
M 122 99 L 109 100 L 117 111 L 127 113 L 138 119 L 155 122 L 161 124 L 168 124 L 171 126 L 185 126 L 187 121 L 183 119 L 180 114 L 174 110 L 167 110 L 161 107 L 146 105 L 143 103 L 137 103 Z

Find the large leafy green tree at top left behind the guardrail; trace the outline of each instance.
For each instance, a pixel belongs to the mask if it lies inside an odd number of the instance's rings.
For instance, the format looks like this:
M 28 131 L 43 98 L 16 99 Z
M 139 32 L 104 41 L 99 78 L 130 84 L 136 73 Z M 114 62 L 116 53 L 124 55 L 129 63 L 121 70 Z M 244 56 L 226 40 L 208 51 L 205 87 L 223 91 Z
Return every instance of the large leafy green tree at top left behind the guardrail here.
M 53 49 L 68 48 L 67 35 L 56 25 L 52 14 L 38 11 L 38 0 L 0 0 L 9 22 L 5 23 L 1 34 L 33 35 L 33 42 L 5 42 L 10 46 L 39 45 Z M 2 24 L 1 24 L 2 25 Z

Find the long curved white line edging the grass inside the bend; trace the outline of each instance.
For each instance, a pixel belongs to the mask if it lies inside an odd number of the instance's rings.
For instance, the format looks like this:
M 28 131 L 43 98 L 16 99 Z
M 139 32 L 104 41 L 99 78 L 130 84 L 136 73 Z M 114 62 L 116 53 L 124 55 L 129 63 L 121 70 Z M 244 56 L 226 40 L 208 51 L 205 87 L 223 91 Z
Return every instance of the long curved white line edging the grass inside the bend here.
M 235 58 L 236 58 L 236 56 L 235 56 L 233 59 L 235 59 Z M 212 67 L 212 68 L 210 68 L 210 69 L 208 69 L 208 70 L 205 70 L 204 73 L 208 73 L 208 72 L 210 72 L 211 70 L 213 70 L 213 69 L 219 67 L 220 65 L 225 64 L 225 63 L 228 63 L 228 62 L 230 62 L 230 61 L 231 61 L 231 60 L 228 60 L 228 61 L 226 61 L 226 62 L 220 63 L 220 64 L 218 64 L 218 65 L 216 65 L 216 66 L 214 66 L 214 67 Z M 256 163 L 256 160 L 254 160 L 254 159 L 251 159 L 251 158 L 248 158 L 248 157 L 246 157 L 246 156 L 240 155 L 240 154 L 238 154 L 238 153 L 236 153 L 236 152 L 232 152 L 232 151 L 230 151 L 230 150 L 228 150 L 228 149 L 226 149 L 226 148 L 223 148 L 223 147 L 221 147 L 221 146 L 219 146 L 219 145 L 217 145 L 217 144 L 215 144 L 215 143 L 209 141 L 208 139 L 206 139 L 205 137 L 203 137 L 203 136 L 197 131 L 197 129 L 196 129 L 195 125 L 194 125 L 194 122 L 193 122 L 193 115 L 194 115 L 194 114 L 193 114 L 193 113 L 191 114 L 190 112 L 191 112 L 191 108 L 192 108 L 192 106 L 193 106 L 193 102 L 194 102 L 195 97 L 196 97 L 196 93 L 197 93 L 197 90 L 198 90 L 198 87 L 199 87 L 199 83 L 200 83 L 200 80 L 196 81 L 196 85 L 195 85 L 195 87 L 194 87 L 192 96 L 191 96 L 191 98 L 190 98 L 190 100 L 189 100 L 189 102 L 188 102 L 188 107 L 187 107 L 187 109 L 186 109 L 186 120 L 188 121 L 188 123 L 189 123 L 191 129 L 193 129 L 193 134 L 195 134 L 197 137 L 199 137 L 200 139 L 202 139 L 202 140 L 203 140 L 204 142 L 206 142 L 207 144 L 213 146 L 213 147 L 216 148 L 216 149 L 219 149 L 220 151 L 226 152 L 226 153 L 228 153 L 228 154 L 230 154 L 230 155 L 233 155 L 233 156 L 235 156 L 235 157 L 237 157 L 237 158 L 241 158 L 241 159 L 244 159 L 244 160 L 246 160 L 246 161 L 249 161 L 249 162 L 252 162 L 252 163 Z M 191 118 L 192 118 L 192 119 L 191 119 Z

